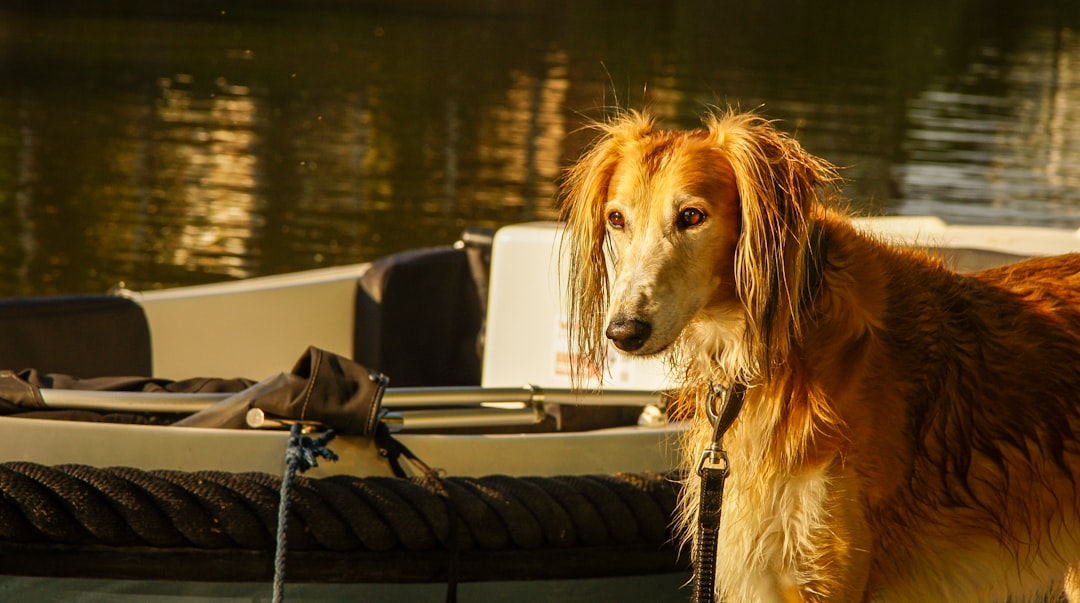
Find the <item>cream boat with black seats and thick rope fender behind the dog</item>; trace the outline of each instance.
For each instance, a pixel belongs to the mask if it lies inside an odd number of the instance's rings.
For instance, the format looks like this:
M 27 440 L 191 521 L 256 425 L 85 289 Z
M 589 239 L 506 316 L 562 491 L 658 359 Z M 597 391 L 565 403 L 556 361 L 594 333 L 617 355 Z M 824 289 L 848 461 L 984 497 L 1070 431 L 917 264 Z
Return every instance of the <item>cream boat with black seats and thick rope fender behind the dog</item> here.
M 855 222 L 959 270 L 1080 252 L 1061 228 Z M 612 354 L 571 387 L 559 237 L 0 300 L 0 593 L 685 600 L 674 384 Z

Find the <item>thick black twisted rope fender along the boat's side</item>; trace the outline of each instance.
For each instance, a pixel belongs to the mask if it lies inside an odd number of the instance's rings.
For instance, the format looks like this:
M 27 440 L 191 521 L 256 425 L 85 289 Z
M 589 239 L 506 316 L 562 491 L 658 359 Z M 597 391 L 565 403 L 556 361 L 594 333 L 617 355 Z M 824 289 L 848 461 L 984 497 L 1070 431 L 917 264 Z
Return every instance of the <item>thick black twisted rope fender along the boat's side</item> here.
M 0 464 L 0 541 L 271 550 L 280 478 Z M 658 473 L 295 478 L 289 550 L 430 551 L 672 546 L 677 485 Z M 456 525 L 456 541 L 449 530 Z

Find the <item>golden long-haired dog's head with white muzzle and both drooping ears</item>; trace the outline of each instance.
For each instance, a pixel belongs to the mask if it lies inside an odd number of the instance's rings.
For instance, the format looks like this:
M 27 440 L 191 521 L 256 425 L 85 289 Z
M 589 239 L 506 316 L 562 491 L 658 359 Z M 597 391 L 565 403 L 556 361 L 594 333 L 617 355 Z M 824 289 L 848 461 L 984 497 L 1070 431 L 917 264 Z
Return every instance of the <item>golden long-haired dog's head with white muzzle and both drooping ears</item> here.
M 568 173 L 571 346 L 593 366 L 607 340 L 637 356 L 683 341 L 741 377 L 786 352 L 816 185 L 835 171 L 760 117 L 705 125 L 627 111 Z

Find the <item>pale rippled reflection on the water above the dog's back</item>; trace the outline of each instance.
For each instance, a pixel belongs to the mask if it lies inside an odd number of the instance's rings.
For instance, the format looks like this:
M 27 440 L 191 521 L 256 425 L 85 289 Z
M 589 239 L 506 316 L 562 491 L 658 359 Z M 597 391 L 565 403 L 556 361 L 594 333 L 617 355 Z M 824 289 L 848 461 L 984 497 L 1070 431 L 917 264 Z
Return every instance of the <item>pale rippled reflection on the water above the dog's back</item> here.
M 1080 224 L 1080 39 L 1039 28 L 908 103 L 900 211 L 954 222 Z

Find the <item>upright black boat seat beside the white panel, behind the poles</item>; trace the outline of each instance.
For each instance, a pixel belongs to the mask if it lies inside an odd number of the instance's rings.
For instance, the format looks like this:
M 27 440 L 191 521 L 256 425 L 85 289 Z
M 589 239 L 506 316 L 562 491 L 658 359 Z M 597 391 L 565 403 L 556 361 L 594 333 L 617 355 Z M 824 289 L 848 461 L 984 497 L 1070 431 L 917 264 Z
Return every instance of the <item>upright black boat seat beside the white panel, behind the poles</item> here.
M 483 283 L 470 253 L 441 246 L 373 264 L 356 289 L 356 362 L 395 387 L 480 385 Z

